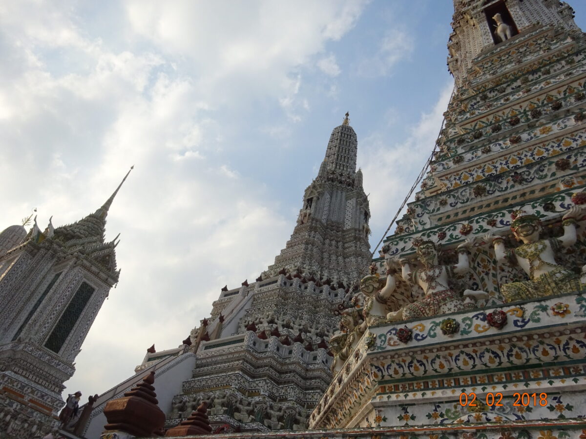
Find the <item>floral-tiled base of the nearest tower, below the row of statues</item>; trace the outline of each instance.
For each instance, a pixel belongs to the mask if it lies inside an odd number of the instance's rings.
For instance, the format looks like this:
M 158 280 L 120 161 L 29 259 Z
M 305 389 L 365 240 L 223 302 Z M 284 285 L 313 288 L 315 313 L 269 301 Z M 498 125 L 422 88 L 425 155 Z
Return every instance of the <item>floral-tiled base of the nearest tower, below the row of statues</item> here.
M 585 334 L 580 293 L 372 326 L 310 428 L 584 419 Z

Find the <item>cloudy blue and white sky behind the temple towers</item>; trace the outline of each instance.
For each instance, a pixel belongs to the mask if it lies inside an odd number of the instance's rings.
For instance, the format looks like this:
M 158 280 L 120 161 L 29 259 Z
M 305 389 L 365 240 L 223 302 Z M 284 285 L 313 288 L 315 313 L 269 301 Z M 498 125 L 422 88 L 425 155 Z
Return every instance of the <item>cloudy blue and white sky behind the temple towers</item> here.
M 570 2 L 586 29 L 586 4 Z M 0 3 L 0 229 L 95 211 L 120 233 L 64 394 L 175 348 L 291 235 L 346 111 L 374 246 L 441 128 L 449 0 Z M 391 229 L 391 230 L 394 230 Z M 85 397 L 85 396 L 84 396 Z

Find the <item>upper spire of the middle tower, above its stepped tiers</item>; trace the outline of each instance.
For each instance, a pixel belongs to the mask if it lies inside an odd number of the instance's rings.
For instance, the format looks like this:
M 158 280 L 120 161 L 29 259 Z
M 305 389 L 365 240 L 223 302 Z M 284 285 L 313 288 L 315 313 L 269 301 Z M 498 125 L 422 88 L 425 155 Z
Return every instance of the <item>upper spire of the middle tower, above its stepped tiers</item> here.
M 333 129 L 318 176 L 305 189 L 297 227 L 263 278 L 299 269 L 347 287 L 364 269 L 370 211 L 348 116 Z

